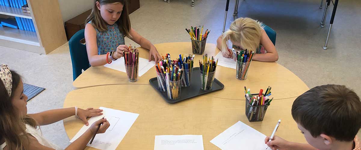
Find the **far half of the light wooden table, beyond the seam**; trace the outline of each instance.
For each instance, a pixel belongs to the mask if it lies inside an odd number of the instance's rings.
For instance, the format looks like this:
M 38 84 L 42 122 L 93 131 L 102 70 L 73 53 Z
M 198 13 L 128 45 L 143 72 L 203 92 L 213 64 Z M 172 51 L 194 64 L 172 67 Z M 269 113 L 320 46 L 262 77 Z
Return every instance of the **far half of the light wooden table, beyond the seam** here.
M 191 54 L 191 42 L 173 42 L 155 44 L 159 54 L 169 53 L 171 59 L 176 59 L 179 54 Z M 148 50 L 138 47 L 140 57 L 148 59 Z M 216 56 L 219 49 L 214 44 L 206 44 L 204 54 Z M 198 60 L 202 55 L 195 54 L 195 65 L 199 67 Z M 276 99 L 287 99 L 297 97 L 309 90 L 306 84 L 295 74 L 282 65 L 275 62 L 252 61 L 248 70 L 246 80 L 236 79 L 236 70 L 222 66 L 217 67 L 216 78 L 223 83 L 225 88 L 220 91 L 211 92 L 205 96 L 217 97 L 222 99 L 245 100 L 244 86 L 251 88 L 252 93 L 259 93 L 262 88 L 266 90 L 268 86 L 272 87 L 272 95 Z M 93 87 L 101 85 L 134 84 L 149 85 L 149 79 L 156 77 L 155 69 L 150 69 L 137 82 L 129 82 L 126 73 L 106 68 L 104 66 L 90 67 L 83 72 L 75 81 L 73 86 L 76 88 Z M 156 94 L 156 93 L 155 93 Z

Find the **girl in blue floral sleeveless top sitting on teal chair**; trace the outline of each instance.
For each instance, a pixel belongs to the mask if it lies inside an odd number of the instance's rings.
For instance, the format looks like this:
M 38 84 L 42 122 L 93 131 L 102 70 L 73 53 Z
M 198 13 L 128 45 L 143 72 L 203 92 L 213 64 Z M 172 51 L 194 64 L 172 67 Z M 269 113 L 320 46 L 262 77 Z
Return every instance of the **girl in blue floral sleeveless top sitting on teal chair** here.
M 128 51 L 124 37 L 149 50 L 149 62 L 161 60 L 156 47 L 130 26 L 127 0 L 94 0 L 93 10 L 86 19 L 85 41 L 90 65 L 111 63 Z

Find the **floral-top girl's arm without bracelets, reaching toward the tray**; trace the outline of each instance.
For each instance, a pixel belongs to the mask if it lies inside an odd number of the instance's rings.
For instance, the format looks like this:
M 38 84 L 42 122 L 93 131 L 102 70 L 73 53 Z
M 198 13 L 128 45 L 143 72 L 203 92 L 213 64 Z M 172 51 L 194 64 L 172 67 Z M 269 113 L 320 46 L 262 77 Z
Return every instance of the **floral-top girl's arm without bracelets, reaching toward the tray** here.
M 130 35 L 132 36 L 130 39 L 145 49 L 149 50 L 149 62 L 154 57 L 155 62 L 159 62 L 162 60 L 162 57 L 159 55 L 157 48 L 151 43 L 151 41 L 146 38 L 140 36 L 133 28 L 130 30 Z

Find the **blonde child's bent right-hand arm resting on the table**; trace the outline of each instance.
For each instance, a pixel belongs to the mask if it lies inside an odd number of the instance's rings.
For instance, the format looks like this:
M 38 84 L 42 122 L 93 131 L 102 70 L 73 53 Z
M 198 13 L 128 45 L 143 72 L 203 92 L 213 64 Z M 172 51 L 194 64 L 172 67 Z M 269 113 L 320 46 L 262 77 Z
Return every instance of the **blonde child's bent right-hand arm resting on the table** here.
M 258 60 L 261 62 L 276 62 L 278 60 L 278 53 L 276 47 L 274 47 L 272 41 L 268 37 L 265 30 L 262 30 L 260 44 L 265 47 L 266 54 L 255 54 L 252 60 Z

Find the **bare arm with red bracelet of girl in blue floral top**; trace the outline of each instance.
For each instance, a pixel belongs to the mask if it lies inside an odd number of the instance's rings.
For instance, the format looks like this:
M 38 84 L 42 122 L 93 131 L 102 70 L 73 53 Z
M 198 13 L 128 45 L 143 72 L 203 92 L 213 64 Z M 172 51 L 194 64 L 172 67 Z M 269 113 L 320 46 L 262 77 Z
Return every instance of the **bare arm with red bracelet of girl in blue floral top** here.
M 86 41 L 86 47 L 87 47 L 87 54 L 88 54 L 88 60 L 91 66 L 100 66 L 105 65 L 106 63 L 112 61 L 112 58 L 108 56 L 108 62 L 106 60 L 106 54 L 98 55 L 98 47 L 96 43 L 96 30 L 95 28 L 90 24 L 87 23 L 85 26 L 85 41 Z M 116 53 L 113 53 L 114 59 L 119 59 L 123 56 L 123 50 L 128 51 L 128 46 L 126 45 L 119 45 L 117 47 Z

